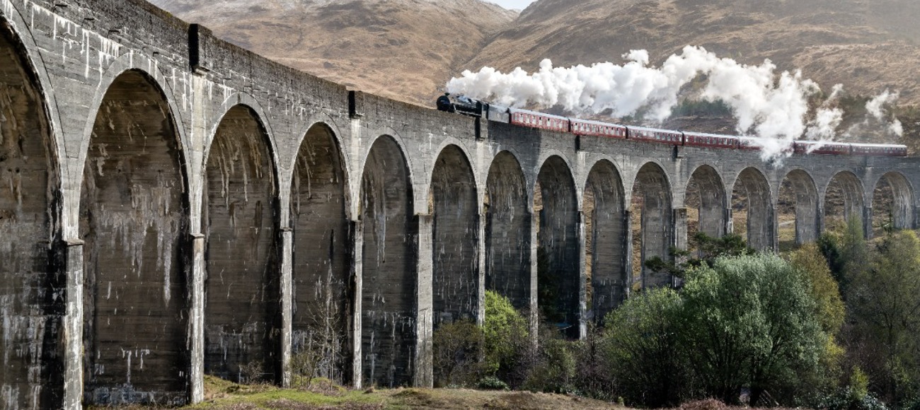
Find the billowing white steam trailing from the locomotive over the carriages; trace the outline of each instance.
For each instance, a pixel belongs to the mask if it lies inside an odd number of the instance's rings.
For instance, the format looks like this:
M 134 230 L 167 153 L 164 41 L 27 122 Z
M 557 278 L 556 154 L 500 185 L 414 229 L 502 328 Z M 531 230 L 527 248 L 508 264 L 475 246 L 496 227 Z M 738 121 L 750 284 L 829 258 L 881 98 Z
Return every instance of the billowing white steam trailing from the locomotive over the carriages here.
M 812 109 L 810 98 L 820 93 L 820 87 L 800 71 L 776 74 L 776 65 L 769 60 L 760 65 L 741 64 L 692 46 L 657 68 L 649 65 L 648 51 L 629 51 L 623 58 L 627 63 L 622 65 L 569 68 L 554 67 L 547 59 L 534 74 L 520 67 L 507 74 L 483 67 L 451 79 L 447 91 L 512 107 L 559 106 L 575 114 L 609 110 L 612 117 L 622 118 L 641 112 L 643 118 L 661 122 L 671 115 L 682 87 L 702 78 L 705 84 L 697 97 L 725 102 L 738 121 L 740 134 L 765 139 L 765 159 L 788 155 L 790 143 L 802 136 L 830 141 L 843 121 L 844 112 L 834 106 L 841 85 L 835 85 L 830 97 Z M 895 99 L 897 93 L 886 91 L 869 101 L 867 110 L 884 121 L 883 107 Z M 900 123 L 895 120 L 891 131 L 896 130 Z

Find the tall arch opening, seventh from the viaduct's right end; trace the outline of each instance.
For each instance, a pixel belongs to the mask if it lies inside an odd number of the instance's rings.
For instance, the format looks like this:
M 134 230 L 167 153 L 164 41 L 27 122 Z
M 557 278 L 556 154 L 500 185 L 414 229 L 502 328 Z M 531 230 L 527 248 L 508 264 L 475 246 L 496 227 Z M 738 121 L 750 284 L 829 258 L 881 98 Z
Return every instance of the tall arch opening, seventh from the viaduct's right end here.
M 626 299 L 627 221 L 623 180 L 609 161 L 592 167 L 582 200 L 585 222 L 585 304 L 597 324 Z

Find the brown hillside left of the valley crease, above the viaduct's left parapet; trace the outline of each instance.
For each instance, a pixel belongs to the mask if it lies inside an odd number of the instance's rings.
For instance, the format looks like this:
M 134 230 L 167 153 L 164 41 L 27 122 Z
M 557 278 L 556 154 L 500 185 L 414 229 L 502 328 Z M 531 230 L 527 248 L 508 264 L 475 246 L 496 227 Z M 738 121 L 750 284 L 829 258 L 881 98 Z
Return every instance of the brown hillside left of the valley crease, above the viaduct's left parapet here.
M 479 0 L 154 0 L 293 68 L 408 102 L 431 100 L 517 16 Z

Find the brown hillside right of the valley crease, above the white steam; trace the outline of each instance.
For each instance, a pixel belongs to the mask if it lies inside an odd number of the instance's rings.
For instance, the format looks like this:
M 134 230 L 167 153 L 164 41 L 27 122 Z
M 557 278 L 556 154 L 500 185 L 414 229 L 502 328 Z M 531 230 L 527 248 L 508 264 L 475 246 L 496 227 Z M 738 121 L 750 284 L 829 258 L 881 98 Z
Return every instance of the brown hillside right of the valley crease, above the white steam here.
M 661 63 L 689 44 L 800 68 L 825 90 L 843 83 L 874 96 L 891 87 L 917 103 L 918 19 L 915 0 L 538 0 L 464 68 L 620 62 L 632 49 Z

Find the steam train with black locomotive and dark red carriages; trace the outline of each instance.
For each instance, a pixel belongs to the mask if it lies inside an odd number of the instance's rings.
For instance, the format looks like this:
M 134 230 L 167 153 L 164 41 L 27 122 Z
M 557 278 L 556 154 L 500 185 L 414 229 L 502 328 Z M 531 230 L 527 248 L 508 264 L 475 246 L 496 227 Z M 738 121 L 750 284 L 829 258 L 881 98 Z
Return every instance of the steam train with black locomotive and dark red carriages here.
M 439 110 L 446 112 L 455 112 L 521 127 L 569 132 L 581 136 L 727 150 L 759 151 L 764 145 L 761 142 L 762 139 L 756 137 L 627 127 L 626 125 L 602 121 L 581 120 L 527 109 L 504 107 L 479 101 L 475 98 L 450 94 L 438 97 L 435 104 Z M 907 156 L 907 146 L 881 143 L 795 141 L 792 143 L 791 150 L 793 154 Z

